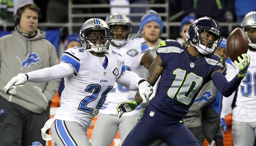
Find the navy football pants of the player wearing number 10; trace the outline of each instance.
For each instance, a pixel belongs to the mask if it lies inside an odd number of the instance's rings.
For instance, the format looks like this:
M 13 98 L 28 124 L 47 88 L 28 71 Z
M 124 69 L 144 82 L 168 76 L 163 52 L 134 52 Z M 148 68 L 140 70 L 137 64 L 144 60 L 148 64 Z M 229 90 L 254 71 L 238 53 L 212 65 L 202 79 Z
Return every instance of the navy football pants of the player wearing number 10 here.
M 157 139 L 164 141 L 168 146 L 199 146 L 183 121 L 173 119 L 148 104 L 122 146 L 146 146 Z

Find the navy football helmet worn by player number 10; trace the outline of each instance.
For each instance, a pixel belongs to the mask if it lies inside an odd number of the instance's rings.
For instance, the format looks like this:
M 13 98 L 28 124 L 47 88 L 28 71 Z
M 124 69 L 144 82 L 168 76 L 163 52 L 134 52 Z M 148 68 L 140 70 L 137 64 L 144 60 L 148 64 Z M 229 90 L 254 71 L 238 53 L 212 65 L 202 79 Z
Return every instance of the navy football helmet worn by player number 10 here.
M 204 38 L 205 32 L 214 35 L 215 39 L 209 40 L 207 38 Z M 200 36 L 201 33 L 204 33 L 202 35 L 203 37 Z M 214 51 L 220 45 L 220 42 L 222 40 L 219 23 L 210 17 L 202 17 L 202 18 L 196 19 L 190 25 L 188 29 L 188 33 L 186 33 L 186 35 L 188 36 L 187 41 L 192 46 L 196 47 L 196 49 L 201 54 L 204 54 L 204 55 L 214 53 Z M 207 42 L 206 46 L 201 44 L 203 39 Z

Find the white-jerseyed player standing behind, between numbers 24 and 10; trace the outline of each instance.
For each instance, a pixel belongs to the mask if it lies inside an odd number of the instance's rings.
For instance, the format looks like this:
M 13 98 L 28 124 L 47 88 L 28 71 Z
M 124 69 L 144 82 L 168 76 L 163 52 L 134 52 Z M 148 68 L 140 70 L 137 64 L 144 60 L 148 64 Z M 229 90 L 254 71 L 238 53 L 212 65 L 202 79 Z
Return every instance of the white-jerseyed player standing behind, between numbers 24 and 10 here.
M 130 39 L 132 21 L 122 13 L 113 13 L 105 21 L 110 27 L 113 37 L 109 49 L 122 54 L 126 70 L 139 74 L 141 65 L 149 69 L 154 58 L 149 53 L 148 45 L 143 38 Z M 116 105 L 120 102 L 132 101 L 135 94 L 136 91 L 131 91 L 115 83 L 99 111 L 99 116 L 93 128 L 91 138 L 93 146 L 109 146 L 118 130 L 121 143 L 123 143 L 125 137 L 135 126 L 142 108 L 139 105 L 129 114 L 124 114 L 124 119 L 119 119 L 116 115 Z

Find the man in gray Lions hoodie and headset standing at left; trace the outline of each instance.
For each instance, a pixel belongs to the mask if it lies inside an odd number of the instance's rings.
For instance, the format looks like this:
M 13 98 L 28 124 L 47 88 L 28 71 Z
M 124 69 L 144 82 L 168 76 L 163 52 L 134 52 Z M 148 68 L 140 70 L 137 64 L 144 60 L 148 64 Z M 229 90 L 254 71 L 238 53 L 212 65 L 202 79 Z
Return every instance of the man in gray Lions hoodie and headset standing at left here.
M 15 14 L 12 34 L 0 38 L 0 145 L 28 146 L 38 141 L 45 145 L 41 128 L 50 117 L 50 103 L 60 80 L 28 83 L 4 90 L 18 73 L 58 64 L 55 47 L 40 31 L 40 8 L 36 4 L 21 5 Z

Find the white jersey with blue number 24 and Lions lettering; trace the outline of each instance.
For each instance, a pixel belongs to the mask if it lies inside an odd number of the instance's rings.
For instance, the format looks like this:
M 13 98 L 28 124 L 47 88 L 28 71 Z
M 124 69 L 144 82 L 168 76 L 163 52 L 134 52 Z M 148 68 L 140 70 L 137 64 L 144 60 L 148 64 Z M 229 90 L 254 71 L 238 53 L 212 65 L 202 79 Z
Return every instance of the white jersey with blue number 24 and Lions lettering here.
M 66 50 L 60 58 L 68 63 L 74 73 L 64 78 L 61 106 L 54 119 L 76 121 L 86 129 L 98 114 L 116 79 L 125 71 L 124 58 L 114 51 L 105 52 L 103 65 L 82 47 Z

